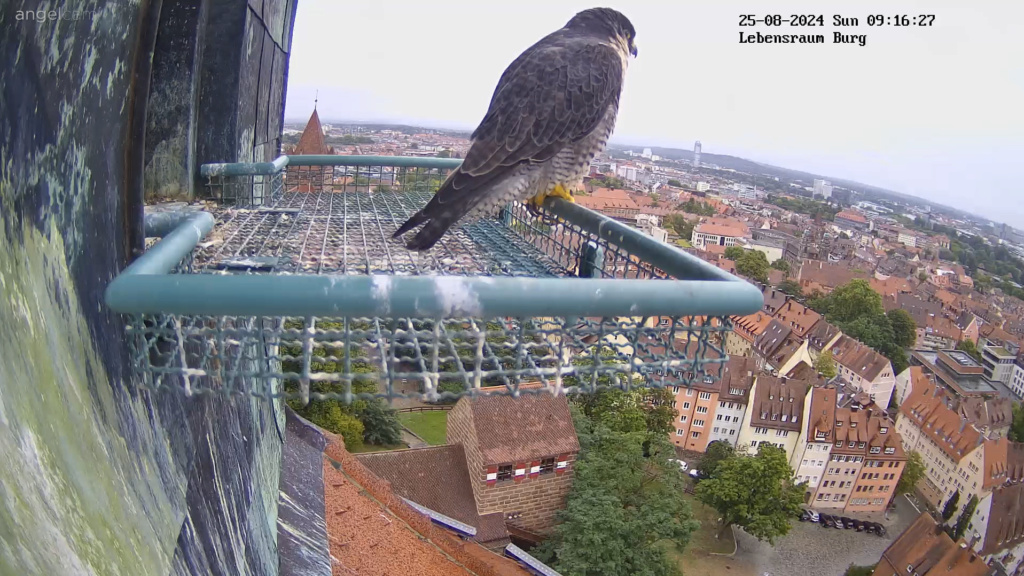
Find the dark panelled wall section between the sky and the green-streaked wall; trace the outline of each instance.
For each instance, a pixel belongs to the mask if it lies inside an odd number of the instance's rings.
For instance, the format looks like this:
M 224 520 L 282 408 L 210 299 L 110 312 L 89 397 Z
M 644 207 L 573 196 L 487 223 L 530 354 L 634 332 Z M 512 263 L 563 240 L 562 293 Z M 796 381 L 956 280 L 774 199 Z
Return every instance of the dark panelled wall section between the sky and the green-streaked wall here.
M 202 196 L 201 164 L 281 153 L 296 0 L 164 0 L 145 142 L 151 198 Z

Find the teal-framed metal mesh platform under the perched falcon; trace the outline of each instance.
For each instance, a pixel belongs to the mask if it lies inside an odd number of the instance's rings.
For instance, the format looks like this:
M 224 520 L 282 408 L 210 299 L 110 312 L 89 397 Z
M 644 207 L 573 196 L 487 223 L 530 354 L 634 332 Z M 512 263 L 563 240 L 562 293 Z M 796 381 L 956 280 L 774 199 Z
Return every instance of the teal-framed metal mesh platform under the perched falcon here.
M 437 401 L 686 385 L 717 377 L 727 315 L 760 307 L 753 286 L 562 201 L 411 252 L 390 237 L 443 178 L 437 159 L 301 160 L 207 170 L 212 218 L 147 221 L 164 240 L 143 258 L 167 270 L 136 262 L 108 293 L 147 386 Z

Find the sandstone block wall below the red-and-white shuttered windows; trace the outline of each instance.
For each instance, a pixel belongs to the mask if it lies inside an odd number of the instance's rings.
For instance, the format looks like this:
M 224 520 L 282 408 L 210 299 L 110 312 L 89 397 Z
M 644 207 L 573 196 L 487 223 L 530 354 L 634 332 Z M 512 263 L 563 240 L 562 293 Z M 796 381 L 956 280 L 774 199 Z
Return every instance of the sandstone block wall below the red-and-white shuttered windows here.
M 483 486 L 479 494 L 479 512 L 517 513 L 519 518 L 507 521 L 516 528 L 535 534 L 548 534 L 555 526 L 555 515 L 565 507 L 565 498 L 572 488 L 572 462 L 568 458 L 565 472 L 540 475 L 525 478 L 519 483 L 512 480 L 499 482 L 494 486 Z M 480 484 L 485 475 L 478 475 Z M 474 482 L 476 479 L 474 479 Z

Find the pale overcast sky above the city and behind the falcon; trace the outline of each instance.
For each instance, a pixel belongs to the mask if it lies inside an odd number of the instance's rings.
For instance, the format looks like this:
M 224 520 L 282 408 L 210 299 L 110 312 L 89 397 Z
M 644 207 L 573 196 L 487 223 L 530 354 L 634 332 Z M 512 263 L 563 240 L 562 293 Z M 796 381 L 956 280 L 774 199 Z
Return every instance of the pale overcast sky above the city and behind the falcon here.
M 595 5 L 573 0 L 300 0 L 286 117 L 472 129 L 527 46 Z M 612 141 L 731 154 L 847 177 L 1024 228 L 1024 2 L 608 3 L 637 30 Z M 825 10 L 822 7 L 828 6 Z M 739 14 L 822 14 L 817 29 Z M 935 14 L 929 28 L 871 13 Z M 866 45 L 739 44 L 856 16 Z

